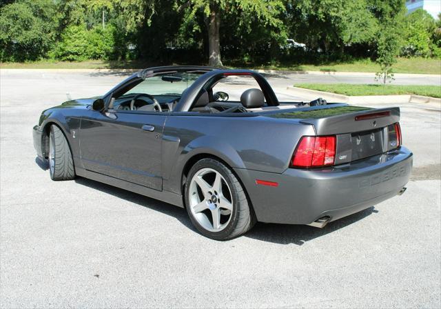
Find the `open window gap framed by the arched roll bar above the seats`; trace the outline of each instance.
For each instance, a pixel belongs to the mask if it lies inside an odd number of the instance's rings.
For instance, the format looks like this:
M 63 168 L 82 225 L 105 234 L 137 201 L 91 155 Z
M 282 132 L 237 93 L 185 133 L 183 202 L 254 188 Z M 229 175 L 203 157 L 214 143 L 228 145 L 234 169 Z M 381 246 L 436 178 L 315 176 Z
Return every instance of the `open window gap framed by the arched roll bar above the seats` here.
M 240 101 L 240 96 L 245 90 L 257 88 L 262 90 L 256 79 L 250 75 L 230 75 L 220 79 L 213 87 L 214 98 L 216 92 L 225 92 L 228 94 L 227 101 Z

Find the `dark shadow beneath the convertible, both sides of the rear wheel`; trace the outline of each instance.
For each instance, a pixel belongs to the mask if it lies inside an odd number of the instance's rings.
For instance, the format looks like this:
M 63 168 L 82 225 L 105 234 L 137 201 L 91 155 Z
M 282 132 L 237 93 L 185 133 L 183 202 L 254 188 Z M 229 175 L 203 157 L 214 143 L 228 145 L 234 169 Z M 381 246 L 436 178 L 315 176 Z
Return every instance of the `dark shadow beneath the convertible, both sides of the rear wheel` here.
M 192 225 L 187 212 L 183 208 L 83 177 L 76 177 L 75 182 L 82 186 L 100 190 L 101 192 L 113 195 L 114 197 L 119 197 L 120 199 L 125 199 L 126 201 L 136 203 L 145 208 L 162 212 L 164 215 L 175 217 L 184 226 L 190 230 L 193 230 L 194 232 L 197 232 L 196 228 L 194 228 Z M 349 226 L 350 224 L 371 215 L 373 212 L 378 212 L 378 210 L 374 209 L 373 207 L 367 208 L 349 217 L 328 223 L 325 228 L 258 222 L 251 231 L 247 232 L 242 237 L 249 237 L 252 239 L 258 239 L 260 241 L 269 241 L 272 243 L 280 243 L 285 245 L 294 243 L 298 246 L 302 246 L 307 241 L 327 235 L 330 232 L 339 230 L 340 228 L 345 228 L 346 226 Z

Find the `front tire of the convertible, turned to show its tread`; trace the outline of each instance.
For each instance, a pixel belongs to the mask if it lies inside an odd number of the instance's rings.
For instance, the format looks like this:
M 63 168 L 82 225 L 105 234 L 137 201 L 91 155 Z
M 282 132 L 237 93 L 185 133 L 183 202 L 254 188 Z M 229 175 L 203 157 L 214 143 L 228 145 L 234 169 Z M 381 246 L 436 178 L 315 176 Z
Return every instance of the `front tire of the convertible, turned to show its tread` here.
M 50 126 L 49 152 L 50 178 L 52 180 L 74 179 L 74 161 L 69 143 L 61 129 L 55 125 Z

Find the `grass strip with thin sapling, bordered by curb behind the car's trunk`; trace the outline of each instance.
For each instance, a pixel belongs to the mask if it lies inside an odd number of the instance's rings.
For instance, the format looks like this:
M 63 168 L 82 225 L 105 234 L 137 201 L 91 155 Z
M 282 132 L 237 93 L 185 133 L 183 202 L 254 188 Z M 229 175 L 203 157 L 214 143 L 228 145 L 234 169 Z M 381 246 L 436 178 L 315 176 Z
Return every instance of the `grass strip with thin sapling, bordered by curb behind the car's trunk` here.
M 298 83 L 295 87 L 346 95 L 418 94 L 441 98 L 441 86 L 353 85 L 349 83 Z

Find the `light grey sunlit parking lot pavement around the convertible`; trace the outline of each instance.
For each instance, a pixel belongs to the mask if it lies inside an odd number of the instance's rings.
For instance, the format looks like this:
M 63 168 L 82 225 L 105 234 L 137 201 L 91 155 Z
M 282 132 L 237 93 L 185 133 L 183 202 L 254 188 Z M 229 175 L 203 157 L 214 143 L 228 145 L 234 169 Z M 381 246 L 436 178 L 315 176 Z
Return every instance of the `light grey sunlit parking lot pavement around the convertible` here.
M 415 155 L 404 195 L 321 230 L 258 223 L 219 242 L 181 208 L 88 179 L 51 181 L 36 163 L 42 110 L 123 78 L 0 72 L 1 308 L 440 308 L 439 106 L 398 104 Z M 269 80 L 290 98 L 289 79 Z

